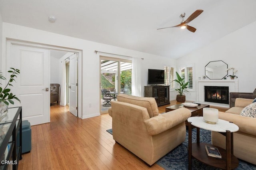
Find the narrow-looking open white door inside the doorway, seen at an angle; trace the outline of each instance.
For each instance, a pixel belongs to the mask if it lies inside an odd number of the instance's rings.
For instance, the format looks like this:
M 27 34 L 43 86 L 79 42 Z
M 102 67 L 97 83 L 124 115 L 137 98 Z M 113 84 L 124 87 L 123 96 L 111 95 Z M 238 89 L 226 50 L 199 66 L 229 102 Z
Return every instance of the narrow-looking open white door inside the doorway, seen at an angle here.
M 69 61 L 69 111 L 77 117 L 77 55 L 70 56 Z

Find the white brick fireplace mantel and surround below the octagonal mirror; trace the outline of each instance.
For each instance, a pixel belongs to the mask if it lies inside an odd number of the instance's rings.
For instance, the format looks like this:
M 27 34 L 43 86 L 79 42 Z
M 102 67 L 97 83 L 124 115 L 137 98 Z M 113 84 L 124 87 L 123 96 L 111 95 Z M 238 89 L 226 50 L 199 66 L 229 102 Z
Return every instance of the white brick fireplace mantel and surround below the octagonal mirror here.
M 238 79 L 196 81 L 196 101 L 204 102 L 204 86 L 228 86 L 229 92 L 238 92 Z

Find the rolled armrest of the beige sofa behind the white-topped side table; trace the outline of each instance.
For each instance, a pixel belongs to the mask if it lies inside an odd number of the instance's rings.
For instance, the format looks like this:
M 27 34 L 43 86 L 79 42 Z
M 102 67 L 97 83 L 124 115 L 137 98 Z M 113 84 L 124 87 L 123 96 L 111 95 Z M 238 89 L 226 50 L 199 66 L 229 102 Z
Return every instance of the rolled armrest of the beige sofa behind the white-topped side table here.
M 240 132 L 256 135 L 256 119 L 232 113 L 219 112 L 219 119 L 233 122 L 239 127 Z

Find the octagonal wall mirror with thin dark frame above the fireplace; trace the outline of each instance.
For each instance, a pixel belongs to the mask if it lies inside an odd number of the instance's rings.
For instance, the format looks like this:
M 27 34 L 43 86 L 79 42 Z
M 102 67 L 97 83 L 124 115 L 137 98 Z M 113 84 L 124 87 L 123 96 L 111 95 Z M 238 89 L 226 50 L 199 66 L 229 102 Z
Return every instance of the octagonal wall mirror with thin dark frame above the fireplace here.
M 228 64 L 222 60 L 210 61 L 204 69 L 205 75 L 211 80 L 220 80 L 228 75 Z

